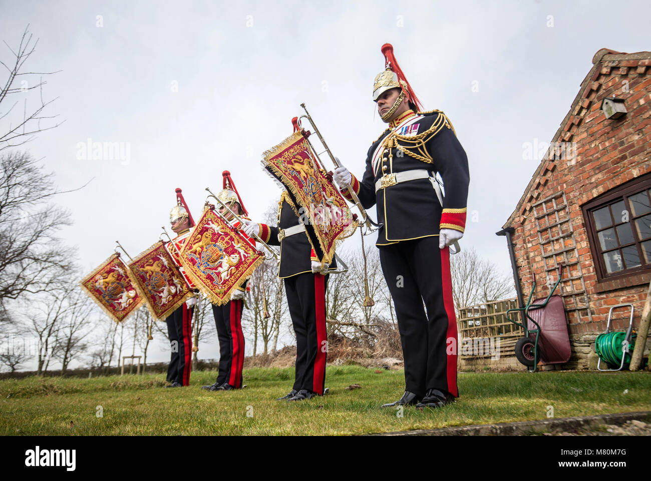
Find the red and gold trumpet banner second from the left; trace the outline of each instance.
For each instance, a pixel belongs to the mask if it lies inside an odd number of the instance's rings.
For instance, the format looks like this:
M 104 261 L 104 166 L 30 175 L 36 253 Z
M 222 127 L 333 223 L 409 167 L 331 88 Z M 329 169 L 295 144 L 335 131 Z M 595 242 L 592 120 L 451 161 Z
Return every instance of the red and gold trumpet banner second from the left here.
M 138 294 L 157 321 L 167 318 L 193 295 L 163 241 L 139 254 L 129 263 L 129 269 Z

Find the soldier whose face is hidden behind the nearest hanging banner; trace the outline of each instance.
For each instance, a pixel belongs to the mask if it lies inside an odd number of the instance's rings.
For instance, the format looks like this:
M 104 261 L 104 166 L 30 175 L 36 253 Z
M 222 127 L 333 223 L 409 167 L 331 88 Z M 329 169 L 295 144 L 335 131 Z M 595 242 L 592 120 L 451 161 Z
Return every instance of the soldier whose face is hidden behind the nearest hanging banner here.
M 300 207 L 300 206 L 299 206 Z M 326 287 L 330 266 L 322 266 L 312 249 L 299 210 L 283 191 L 278 203 L 277 227 L 249 223 L 244 231 L 255 233 L 269 245 L 281 246 L 278 277 L 284 280 L 287 303 L 296 333 L 294 386 L 279 400 L 300 401 L 322 395 L 326 382 Z

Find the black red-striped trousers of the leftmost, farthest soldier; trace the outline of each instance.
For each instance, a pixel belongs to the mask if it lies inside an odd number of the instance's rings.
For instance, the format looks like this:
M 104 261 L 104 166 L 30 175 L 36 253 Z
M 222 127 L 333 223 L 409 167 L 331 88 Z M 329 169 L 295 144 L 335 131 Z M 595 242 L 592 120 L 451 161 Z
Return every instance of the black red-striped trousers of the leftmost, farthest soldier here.
M 167 335 L 172 350 L 169 366 L 167 367 L 167 380 L 187 386 L 190 381 L 190 367 L 192 355 L 192 312 L 184 303 L 167 316 Z

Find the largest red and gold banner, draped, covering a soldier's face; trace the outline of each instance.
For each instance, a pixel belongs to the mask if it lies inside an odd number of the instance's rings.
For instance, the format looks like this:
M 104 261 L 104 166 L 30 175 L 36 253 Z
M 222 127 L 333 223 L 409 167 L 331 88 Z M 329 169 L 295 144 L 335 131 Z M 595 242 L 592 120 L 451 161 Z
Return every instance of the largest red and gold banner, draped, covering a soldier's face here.
M 262 158 L 262 165 L 287 187 L 318 258 L 332 262 L 338 241 L 353 234 L 357 222 L 346 199 L 318 168 L 307 139 L 295 132 Z

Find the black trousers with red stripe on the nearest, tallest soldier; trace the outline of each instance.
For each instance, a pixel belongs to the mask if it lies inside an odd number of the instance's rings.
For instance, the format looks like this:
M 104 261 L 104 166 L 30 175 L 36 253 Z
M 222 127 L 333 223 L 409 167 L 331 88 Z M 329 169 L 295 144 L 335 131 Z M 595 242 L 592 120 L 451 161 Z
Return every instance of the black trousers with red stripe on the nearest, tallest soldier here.
M 406 390 L 458 397 L 449 248 L 439 249 L 438 236 L 400 241 L 380 246 L 380 262 L 398 318 Z

